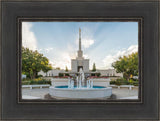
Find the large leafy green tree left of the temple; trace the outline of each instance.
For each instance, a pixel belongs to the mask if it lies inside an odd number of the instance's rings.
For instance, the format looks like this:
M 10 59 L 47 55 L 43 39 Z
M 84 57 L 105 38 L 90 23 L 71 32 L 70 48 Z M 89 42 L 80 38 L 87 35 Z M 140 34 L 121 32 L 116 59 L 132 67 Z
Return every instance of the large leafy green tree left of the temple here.
M 22 73 L 34 79 L 40 70 L 47 72 L 52 69 L 48 58 L 37 50 L 22 47 Z

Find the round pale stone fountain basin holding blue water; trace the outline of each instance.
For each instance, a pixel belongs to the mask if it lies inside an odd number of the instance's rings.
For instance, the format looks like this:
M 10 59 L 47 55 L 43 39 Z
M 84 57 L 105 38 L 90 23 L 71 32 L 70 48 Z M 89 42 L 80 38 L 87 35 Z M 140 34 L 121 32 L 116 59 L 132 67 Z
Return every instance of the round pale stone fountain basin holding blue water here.
M 93 88 L 68 88 L 68 86 L 51 86 L 49 93 L 53 97 L 71 99 L 109 98 L 112 95 L 112 87 L 93 86 Z

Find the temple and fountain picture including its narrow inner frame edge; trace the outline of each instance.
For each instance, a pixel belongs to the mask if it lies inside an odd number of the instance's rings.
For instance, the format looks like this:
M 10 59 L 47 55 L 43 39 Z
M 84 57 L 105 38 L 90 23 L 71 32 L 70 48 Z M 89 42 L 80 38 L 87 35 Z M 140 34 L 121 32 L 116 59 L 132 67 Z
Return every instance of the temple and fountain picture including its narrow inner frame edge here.
M 142 21 L 143 18 L 18 18 L 19 42 L 22 41 L 19 75 L 24 76 L 19 81 L 19 102 L 142 103 L 143 79 L 138 76 L 143 70 Z M 36 26 L 39 29 L 33 32 L 31 29 Z M 43 38 L 51 37 L 48 42 L 37 40 L 35 33 L 37 38 L 42 38 L 38 37 L 42 33 Z M 115 35 L 124 38 L 114 38 Z M 124 45 L 131 36 L 133 39 Z M 115 45 L 117 40 L 121 44 Z

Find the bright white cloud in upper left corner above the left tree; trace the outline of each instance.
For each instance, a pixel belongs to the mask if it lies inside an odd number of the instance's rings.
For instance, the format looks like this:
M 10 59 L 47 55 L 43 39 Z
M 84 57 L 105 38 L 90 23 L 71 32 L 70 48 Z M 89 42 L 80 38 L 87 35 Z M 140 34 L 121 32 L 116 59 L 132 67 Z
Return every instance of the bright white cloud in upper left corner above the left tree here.
M 31 50 L 37 49 L 37 39 L 34 32 L 31 30 L 32 24 L 22 22 L 22 45 Z

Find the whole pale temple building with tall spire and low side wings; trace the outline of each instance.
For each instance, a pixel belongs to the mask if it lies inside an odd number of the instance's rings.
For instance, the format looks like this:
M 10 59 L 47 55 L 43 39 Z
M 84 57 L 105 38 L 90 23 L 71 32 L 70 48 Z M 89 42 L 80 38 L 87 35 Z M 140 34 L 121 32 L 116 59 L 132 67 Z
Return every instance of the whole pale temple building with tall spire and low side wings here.
M 79 49 L 77 51 L 77 57 L 75 59 L 71 59 L 71 70 L 65 71 L 63 69 L 53 69 L 48 71 L 47 73 L 44 73 L 42 70 L 38 72 L 38 75 L 42 76 L 74 76 L 74 74 L 77 74 L 80 70 L 80 68 L 83 69 L 83 72 L 85 75 L 92 76 L 100 73 L 100 76 L 109 76 L 109 77 L 123 77 L 122 73 L 117 73 L 115 69 L 106 69 L 106 70 L 100 70 L 97 69 L 95 72 L 92 72 L 92 70 L 89 70 L 89 59 L 85 59 L 83 57 L 83 51 L 81 46 L 81 29 L 79 28 Z

